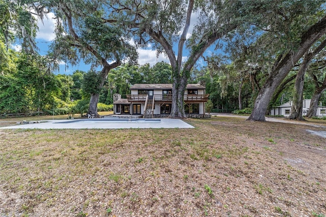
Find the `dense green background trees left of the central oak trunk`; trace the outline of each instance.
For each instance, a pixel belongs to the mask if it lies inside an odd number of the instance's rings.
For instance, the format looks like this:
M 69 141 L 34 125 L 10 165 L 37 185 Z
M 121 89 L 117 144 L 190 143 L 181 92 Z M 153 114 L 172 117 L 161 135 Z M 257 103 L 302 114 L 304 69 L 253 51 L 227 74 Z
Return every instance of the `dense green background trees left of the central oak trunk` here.
M 87 113 L 94 88 L 90 80 L 96 72 L 56 75 L 48 57 L 16 52 L 0 43 L 0 114 Z M 111 70 L 100 90 L 97 110 L 112 110 L 113 94 L 125 97 L 136 83 L 171 83 L 171 66 L 161 62 L 153 67 L 123 65 Z

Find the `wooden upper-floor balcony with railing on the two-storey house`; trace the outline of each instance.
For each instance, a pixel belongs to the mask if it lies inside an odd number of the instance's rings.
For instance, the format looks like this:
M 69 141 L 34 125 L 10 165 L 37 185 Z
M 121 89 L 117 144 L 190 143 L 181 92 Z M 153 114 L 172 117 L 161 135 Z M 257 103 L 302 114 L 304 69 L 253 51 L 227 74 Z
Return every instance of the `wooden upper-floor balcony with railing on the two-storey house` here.
M 208 100 L 209 94 L 187 94 L 183 96 L 185 102 L 197 101 L 197 102 L 206 102 Z M 127 100 L 129 102 L 142 102 L 146 100 L 146 94 L 128 94 Z M 172 94 L 164 95 L 154 95 L 154 101 L 172 101 Z

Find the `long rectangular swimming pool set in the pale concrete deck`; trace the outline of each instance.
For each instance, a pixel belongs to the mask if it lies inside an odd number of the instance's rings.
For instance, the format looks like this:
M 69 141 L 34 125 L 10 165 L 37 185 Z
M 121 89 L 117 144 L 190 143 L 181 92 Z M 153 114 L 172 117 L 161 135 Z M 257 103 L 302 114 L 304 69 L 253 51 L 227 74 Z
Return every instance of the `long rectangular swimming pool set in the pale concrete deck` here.
M 145 118 L 92 118 L 92 119 L 76 119 L 70 121 L 55 122 L 56 124 L 68 123 L 160 123 L 161 119 L 145 119 Z

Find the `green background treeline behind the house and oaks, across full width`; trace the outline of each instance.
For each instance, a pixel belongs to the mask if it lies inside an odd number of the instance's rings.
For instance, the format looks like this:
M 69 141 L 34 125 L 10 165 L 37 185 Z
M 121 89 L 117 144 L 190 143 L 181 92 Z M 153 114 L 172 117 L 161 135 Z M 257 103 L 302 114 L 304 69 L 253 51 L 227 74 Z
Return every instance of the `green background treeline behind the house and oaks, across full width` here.
M 7 50 L 4 43 L 1 44 L 0 114 L 87 113 L 94 86 L 90 80 L 97 73 L 76 70 L 69 75 L 56 75 L 49 67 L 47 57 Z M 247 74 L 239 73 L 234 63 L 229 64 L 218 56 L 205 61 L 205 67 L 191 71 L 188 83 L 199 83 L 206 87 L 206 93 L 210 94 L 213 103 L 212 112 L 232 112 L 244 108 L 250 111 L 264 82 L 262 72 L 251 67 L 246 71 Z M 287 83 L 280 86 L 270 107 L 292 99 L 297 67 L 285 79 Z M 323 67 L 318 67 L 311 66 L 305 75 L 304 98 L 312 98 L 316 89 L 315 80 L 322 80 L 325 76 Z M 126 97 L 133 84 L 171 84 L 171 79 L 171 65 L 165 62 L 152 67 L 149 64 L 122 65 L 112 69 L 100 90 L 97 110 L 112 110 L 113 94 L 119 93 Z M 321 94 L 320 102 L 326 104 L 326 94 Z

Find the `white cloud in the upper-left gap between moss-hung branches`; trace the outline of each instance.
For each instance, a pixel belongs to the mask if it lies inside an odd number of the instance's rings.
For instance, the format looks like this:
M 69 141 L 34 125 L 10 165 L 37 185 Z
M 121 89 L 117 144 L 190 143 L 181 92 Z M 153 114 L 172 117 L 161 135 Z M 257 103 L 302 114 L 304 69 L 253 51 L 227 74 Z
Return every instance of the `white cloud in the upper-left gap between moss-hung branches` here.
M 44 17 L 43 22 L 41 19 L 38 19 L 39 32 L 37 32 L 37 39 L 43 39 L 45 41 L 52 41 L 55 39 L 55 28 L 57 20 L 54 19 L 55 14 L 48 13 L 47 17 Z

